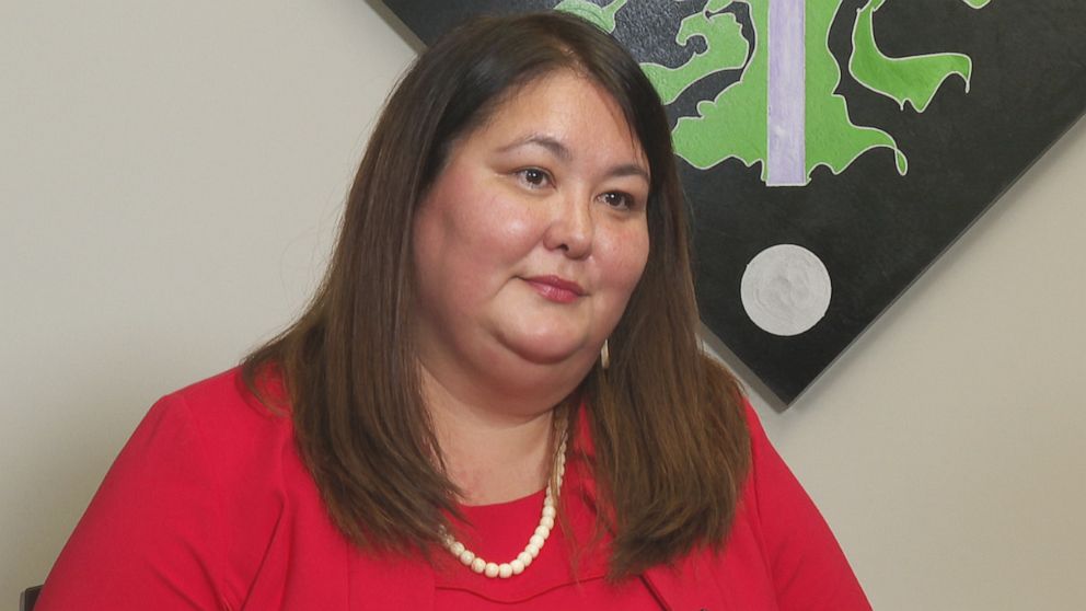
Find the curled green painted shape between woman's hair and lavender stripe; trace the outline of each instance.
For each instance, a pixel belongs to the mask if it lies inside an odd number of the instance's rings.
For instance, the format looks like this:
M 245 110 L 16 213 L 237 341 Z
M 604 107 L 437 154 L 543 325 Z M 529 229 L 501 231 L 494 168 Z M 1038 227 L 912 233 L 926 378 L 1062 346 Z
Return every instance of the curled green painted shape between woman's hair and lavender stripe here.
M 695 54 L 678 68 L 642 64 L 665 104 L 674 102 L 690 85 L 709 74 L 743 67 L 750 44 L 742 36 L 742 25 L 731 13 L 714 14 L 730 3 L 731 0 L 709 0 L 701 12 L 679 25 L 675 43 L 685 47 L 691 38 L 701 37 L 705 41 L 704 53 Z

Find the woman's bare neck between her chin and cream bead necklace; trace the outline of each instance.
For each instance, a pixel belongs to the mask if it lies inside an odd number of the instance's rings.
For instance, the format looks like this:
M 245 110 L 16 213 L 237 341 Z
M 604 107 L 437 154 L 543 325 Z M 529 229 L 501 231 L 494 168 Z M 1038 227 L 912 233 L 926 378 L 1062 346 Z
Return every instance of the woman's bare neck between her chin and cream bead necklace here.
M 464 401 L 426 373 L 424 389 L 447 474 L 465 505 L 504 503 L 546 486 L 553 406 Z

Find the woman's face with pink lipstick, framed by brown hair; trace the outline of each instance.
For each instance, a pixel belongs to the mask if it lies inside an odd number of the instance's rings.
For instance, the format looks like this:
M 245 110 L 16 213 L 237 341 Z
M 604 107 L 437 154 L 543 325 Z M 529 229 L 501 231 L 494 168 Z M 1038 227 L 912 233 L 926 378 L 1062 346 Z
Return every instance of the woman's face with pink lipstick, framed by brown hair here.
M 511 95 L 455 142 L 416 215 L 424 368 L 447 384 L 579 382 L 645 268 L 648 192 L 636 136 L 593 82 L 561 71 Z

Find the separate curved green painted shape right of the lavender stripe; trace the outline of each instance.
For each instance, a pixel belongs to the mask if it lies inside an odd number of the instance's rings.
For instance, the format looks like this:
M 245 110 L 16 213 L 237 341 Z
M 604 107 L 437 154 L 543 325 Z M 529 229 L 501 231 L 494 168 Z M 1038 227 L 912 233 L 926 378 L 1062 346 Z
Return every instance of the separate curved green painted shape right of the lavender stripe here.
M 982 0 L 966 1 L 970 5 L 983 5 Z M 852 34 L 853 53 L 848 59 L 852 76 L 864 87 L 897 102 L 901 109 L 909 103 L 917 113 L 927 108 L 939 87 L 952 74 L 966 81 L 968 92 L 973 69 L 968 56 L 940 53 L 899 58 L 882 54 L 875 42 L 874 19 L 875 12 L 885 2 L 870 0 L 856 16 Z

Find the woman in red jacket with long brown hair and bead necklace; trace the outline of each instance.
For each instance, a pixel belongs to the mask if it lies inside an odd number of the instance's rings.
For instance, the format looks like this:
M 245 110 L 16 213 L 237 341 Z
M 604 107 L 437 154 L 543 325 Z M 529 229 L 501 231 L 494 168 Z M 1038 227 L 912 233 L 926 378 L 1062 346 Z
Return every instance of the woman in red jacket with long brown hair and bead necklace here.
M 695 337 L 667 118 L 558 14 L 390 99 L 312 306 L 160 401 L 50 609 L 867 609 Z

